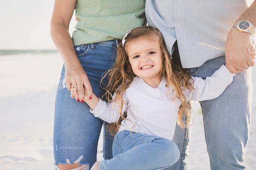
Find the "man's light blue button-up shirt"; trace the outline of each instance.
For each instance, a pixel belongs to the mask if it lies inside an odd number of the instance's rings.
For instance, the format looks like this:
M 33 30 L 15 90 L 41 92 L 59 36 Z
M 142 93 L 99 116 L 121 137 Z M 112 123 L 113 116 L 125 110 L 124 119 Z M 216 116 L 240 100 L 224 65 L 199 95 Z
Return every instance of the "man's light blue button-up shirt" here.
M 178 41 L 184 68 L 198 67 L 225 55 L 228 32 L 248 7 L 247 3 L 244 0 L 146 0 L 146 16 L 148 24 L 162 32 L 170 53 L 175 40 Z

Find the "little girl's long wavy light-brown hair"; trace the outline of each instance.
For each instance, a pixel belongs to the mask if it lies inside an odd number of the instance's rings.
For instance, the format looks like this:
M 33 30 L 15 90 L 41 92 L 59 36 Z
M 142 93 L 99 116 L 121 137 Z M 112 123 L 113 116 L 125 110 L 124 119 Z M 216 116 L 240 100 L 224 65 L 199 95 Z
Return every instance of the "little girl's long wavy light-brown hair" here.
M 162 55 L 162 71 L 161 75 L 163 79 L 167 82 L 167 91 L 166 95 L 170 100 L 174 100 L 178 98 L 181 102 L 178 113 L 177 123 L 181 127 L 187 126 L 187 122 L 190 121 L 191 118 L 191 109 L 190 105 L 187 103 L 187 99 L 183 94 L 183 91 L 186 89 L 194 90 L 192 83 L 193 79 L 191 79 L 189 72 L 182 69 L 180 64 L 174 63 L 171 60 L 171 56 L 166 48 L 164 43 L 164 38 L 161 32 L 151 26 L 143 26 L 139 28 L 135 28 L 131 30 L 130 33 L 125 37 L 125 43 L 120 43 L 117 49 L 117 58 L 114 66 L 105 74 L 104 77 L 108 76 L 109 82 L 106 86 L 106 93 L 104 97 L 107 99 L 109 103 L 117 104 L 117 108 L 119 108 L 118 112 L 120 114 L 120 118 L 116 123 L 112 123 L 109 126 L 109 132 L 115 135 L 118 132 L 119 126 L 121 122 L 126 119 L 126 113 L 122 113 L 122 108 L 124 105 L 128 109 L 129 106 L 123 101 L 124 91 L 130 86 L 133 81 L 133 78 L 136 77 L 132 71 L 132 66 L 129 62 L 129 56 L 127 55 L 127 42 L 134 40 L 135 38 L 142 37 L 148 38 L 156 35 L 159 39 L 159 44 L 161 50 L 163 52 Z M 113 94 L 115 93 L 115 97 Z M 130 109 L 131 111 L 131 109 Z M 132 113 L 132 112 L 131 112 Z M 186 114 L 186 122 L 182 121 L 182 114 Z M 134 116 L 134 115 L 133 115 Z M 127 120 L 127 119 L 126 119 Z M 129 120 L 131 121 L 131 120 Z M 135 123 L 136 124 L 136 123 Z M 135 126 L 135 124 L 133 124 Z

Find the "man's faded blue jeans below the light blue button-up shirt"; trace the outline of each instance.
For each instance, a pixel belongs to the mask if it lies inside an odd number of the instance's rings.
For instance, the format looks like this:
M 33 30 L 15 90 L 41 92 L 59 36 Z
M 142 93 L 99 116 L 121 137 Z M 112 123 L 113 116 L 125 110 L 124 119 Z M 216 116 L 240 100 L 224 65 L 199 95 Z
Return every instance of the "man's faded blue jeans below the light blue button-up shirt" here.
M 222 64 L 225 64 L 225 56 L 206 61 L 200 67 L 190 69 L 190 72 L 193 76 L 206 78 Z M 244 155 L 252 111 L 251 69 L 237 73 L 220 97 L 201 101 L 200 104 L 211 169 L 245 169 Z M 191 128 L 193 125 L 188 125 L 188 129 L 176 126 L 172 141 L 180 149 L 180 160 L 168 170 L 187 169 Z

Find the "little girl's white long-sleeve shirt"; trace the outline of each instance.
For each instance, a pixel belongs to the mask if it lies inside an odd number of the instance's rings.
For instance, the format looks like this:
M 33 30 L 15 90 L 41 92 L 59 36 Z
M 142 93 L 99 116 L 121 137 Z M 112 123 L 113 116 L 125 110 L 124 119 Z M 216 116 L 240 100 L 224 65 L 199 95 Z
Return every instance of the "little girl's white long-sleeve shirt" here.
M 206 79 L 192 77 L 195 90 L 190 92 L 190 89 L 187 89 L 183 92 L 187 101 L 217 98 L 233 81 L 234 75 L 222 65 L 211 77 Z M 119 131 L 129 130 L 172 140 L 181 103 L 177 98 L 170 100 L 166 92 L 164 80 L 157 88 L 152 88 L 142 78 L 135 77 L 123 94 L 125 104 L 130 109 L 123 105 L 122 111 L 123 113 L 127 111 L 127 120 L 122 121 Z M 90 112 L 103 121 L 114 123 L 120 117 L 118 106 L 119 104 L 106 103 L 100 99 L 98 105 L 93 110 L 90 109 Z

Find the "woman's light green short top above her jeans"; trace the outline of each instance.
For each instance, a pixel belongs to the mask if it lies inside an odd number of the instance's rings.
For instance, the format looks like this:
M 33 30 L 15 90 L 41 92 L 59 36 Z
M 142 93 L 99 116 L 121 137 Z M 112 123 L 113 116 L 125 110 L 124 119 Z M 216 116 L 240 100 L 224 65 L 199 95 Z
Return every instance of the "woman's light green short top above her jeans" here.
M 122 39 L 146 22 L 145 0 L 77 0 L 74 46 Z

